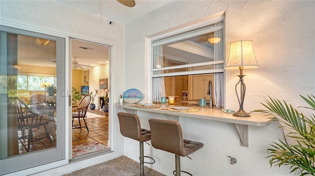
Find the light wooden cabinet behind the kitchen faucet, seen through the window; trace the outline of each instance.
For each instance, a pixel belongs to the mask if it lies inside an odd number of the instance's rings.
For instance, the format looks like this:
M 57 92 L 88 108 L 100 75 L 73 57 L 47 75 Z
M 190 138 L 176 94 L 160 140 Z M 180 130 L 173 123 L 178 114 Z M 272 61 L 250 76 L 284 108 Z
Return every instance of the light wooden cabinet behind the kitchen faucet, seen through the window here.
M 192 76 L 192 99 L 206 97 L 209 100 L 210 95 L 207 95 L 209 80 L 212 81 L 212 102 L 214 103 L 214 74 Z M 189 99 L 191 98 L 189 97 Z

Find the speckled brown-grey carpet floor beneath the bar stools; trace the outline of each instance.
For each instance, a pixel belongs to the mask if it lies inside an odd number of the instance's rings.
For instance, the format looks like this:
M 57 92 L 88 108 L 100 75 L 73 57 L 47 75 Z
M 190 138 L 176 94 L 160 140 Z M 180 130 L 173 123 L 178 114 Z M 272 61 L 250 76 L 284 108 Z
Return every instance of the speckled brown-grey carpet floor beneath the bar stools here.
M 140 164 L 126 156 L 120 156 L 63 176 L 134 176 L 136 174 L 140 174 Z M 165 176 L 146 166 L 144 167 L 144 174 Z

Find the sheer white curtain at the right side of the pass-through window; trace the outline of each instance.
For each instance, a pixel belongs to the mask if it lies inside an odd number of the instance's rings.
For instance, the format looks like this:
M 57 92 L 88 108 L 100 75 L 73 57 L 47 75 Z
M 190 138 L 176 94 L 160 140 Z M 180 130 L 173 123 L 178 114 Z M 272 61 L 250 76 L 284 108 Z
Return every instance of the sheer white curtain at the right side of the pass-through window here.
M 215 37 L 221 38 L 221 42 L 215 44 L 215 60 L 223 60 L 223 30 L 215 31 Z M 215 66 L 216 68 L 223 68 L 223 64 Z M 223 106 L 224 94 L 223 94 L 223 73 L 215 74 L 215 89 L 214 97 L 216 106 Z

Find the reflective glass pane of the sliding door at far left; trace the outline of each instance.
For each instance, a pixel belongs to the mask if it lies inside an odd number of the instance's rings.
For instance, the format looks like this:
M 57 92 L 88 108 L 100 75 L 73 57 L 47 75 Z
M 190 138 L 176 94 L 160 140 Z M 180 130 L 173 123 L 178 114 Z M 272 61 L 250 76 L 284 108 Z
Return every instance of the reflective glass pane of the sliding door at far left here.
M 1 132 L 8 129 L 1 134 L 1 159 L 57 145 L 56 41 L 8 34 L 7 46 L 0 65 L 7 68 L 0 73 L 0 89 L 8 97 L 1 116 Z

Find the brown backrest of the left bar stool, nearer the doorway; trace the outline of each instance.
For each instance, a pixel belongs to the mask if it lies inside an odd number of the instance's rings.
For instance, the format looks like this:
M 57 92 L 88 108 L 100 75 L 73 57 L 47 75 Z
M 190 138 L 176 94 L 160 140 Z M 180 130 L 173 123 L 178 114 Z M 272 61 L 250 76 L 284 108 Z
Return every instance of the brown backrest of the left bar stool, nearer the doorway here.
M 120 132 L 123 136 L 137 141 L 142 141 L 141 126 L 139 117 L 136 114 L 117 113 Z

